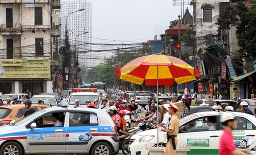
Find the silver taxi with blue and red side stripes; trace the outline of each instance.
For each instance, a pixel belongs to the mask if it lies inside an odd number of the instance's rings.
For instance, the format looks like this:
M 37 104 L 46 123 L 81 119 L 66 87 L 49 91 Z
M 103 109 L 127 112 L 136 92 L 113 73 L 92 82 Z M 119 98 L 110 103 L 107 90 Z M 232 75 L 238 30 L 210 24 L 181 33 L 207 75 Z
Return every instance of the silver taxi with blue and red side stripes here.
M 54 126 L 53 115 L 62 126 Z M 1 155 L 117 154 L 118 147 L 115 123 L 93 108 L 45 108 L 0 127 Z

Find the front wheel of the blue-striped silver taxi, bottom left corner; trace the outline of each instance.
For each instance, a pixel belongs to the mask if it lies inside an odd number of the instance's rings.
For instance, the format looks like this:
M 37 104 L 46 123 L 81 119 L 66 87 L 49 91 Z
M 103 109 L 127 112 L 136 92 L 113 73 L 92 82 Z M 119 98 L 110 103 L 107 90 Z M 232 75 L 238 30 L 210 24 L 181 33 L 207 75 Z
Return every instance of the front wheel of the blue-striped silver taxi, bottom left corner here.
M 22 147 L 16 142 L 5 143 L 0 150 L 1 155 L 22 155 Z

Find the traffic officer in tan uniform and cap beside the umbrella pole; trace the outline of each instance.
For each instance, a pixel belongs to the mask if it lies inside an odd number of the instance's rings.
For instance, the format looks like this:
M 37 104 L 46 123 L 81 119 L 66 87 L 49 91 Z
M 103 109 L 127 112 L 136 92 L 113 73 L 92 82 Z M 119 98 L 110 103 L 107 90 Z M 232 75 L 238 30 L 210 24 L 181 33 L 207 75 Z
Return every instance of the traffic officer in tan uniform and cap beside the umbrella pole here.
M 170 103 L 170 106 L 168 108 L 168 113 L 171 116 L 168 129 L 165 129 L 161 126 L 159 126 L 160 131 L 167 132 L 167 144 L 166 144 L 166 150 L 165 154 L 172 154 L 176 155 L 176 145 L 178 144 L 178 138 L 177 135 L 179 133 L 179 119 L 175 115 L 175 113 L 179 110 L 179 108 L 174 104 Z

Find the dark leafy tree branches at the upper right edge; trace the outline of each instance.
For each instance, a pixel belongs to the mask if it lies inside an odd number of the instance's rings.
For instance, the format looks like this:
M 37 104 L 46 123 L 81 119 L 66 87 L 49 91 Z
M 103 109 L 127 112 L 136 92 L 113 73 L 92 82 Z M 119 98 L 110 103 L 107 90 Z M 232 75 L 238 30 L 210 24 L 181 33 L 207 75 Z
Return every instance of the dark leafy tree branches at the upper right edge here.
M 248 3 L 247 3 L 248 4 Z M 217 19 L 219 32 L 225 32 L 230 29 L 230 26 L 236 27 L 236 35 L 238 53 L 241 57 L 251 60 L 256 58 L 255 43 L 256 43 L 256 9 L 255 1 L 250 2 L 251 7 L 248 7 L 243 2 L 238 2 L 236 5 L 228 7 L 223 15 Z

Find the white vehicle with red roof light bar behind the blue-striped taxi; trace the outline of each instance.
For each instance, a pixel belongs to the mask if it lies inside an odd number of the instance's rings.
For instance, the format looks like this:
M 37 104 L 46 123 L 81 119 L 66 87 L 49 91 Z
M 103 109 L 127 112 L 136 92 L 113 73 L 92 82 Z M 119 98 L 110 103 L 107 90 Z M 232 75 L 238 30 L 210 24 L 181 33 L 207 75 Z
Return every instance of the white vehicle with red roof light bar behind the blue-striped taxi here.
M 95 99 L 98 100 L 98 105 L 101 105 L 101 98 L 97 88 L 73 88 L 73 93 L 69 95 L 69 106 L 75 106 L 75 100 L 79 100 L 79 104 L 84 106 L 87 100 L 92 103 Z

